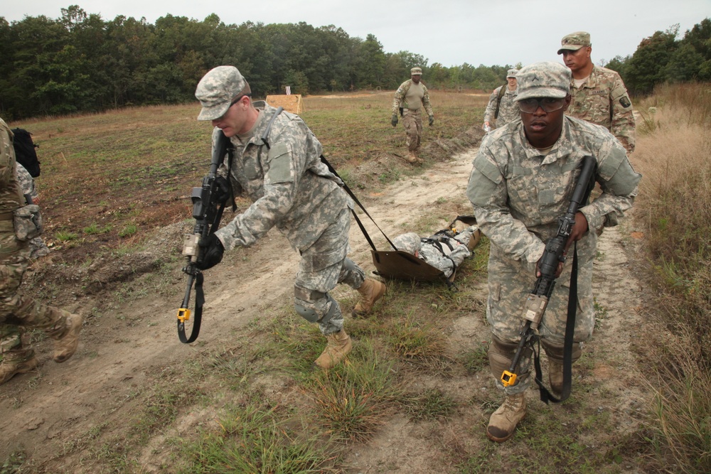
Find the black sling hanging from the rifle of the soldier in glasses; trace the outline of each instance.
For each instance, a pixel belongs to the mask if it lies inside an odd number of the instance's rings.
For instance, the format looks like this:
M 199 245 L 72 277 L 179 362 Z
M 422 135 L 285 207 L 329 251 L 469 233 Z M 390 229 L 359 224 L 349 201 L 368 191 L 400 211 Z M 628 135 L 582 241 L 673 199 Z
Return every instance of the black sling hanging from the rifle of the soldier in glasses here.
M 544 403 L 560 403 L 570 397 L 572 387 L 573 337 L 575 335 L 575 313 L 577 313 L 577 242 L 573 242 L 573 266 L 570 271 L 570 293 L 568 294 L 568 313 L 565 321 L 565 339 L 563 340 L 563 387 L 560 399 L 551 394 L 543 384 L 543 372 L 540 369 L 540 338 L 535 336 L 538 350 L 533 348 L 533 365 L 535 367 L 535 383 L 538 384 L 540 401 Z M 533 346 L 533 345 L 532 345 Z

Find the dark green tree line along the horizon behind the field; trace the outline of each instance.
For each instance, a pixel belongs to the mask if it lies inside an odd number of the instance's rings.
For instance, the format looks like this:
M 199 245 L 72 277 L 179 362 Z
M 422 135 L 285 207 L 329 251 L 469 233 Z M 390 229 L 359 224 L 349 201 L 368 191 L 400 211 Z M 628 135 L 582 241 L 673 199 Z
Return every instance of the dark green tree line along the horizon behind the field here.
M 102 112 L 132 105 L 194 100 L 201 77 L 216 65 L 237 65 L 255 97 L 395 89 L 419 66 L 432 89 L 492 90 L 506 82 L 511 65 L 429 65 L 417 53 L 386 53 L 378 38 L 351 37 L 336 26 L 307 23 L 225 24 L 166 15 L 113 20 L 80 6 L 60 18 L 0 17 L 0 114 L 6 120 Z M 711 80 L 711 21 L 676 40 L 678 26 L 656 32 L 626 58 L 606 66 L 620 72 L 631 92 L 648 93 L 659 82 Z M 518 65 L 520 66 L 520 65 Z

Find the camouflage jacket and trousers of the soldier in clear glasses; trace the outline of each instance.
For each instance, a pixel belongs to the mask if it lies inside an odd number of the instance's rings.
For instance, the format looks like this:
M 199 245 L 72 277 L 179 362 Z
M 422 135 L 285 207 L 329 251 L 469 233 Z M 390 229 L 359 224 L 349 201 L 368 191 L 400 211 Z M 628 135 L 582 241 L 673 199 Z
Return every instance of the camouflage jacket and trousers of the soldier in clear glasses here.
M 520 82 L 519 82 L 520 87 Z M 564 117 L 560 138 L 547 155 L 528 143 L 522 122 L 508 124 L 487 134 L 474 158 L 466 190 L 474 205 L 476 222 L 491 241 L 488 262 L 486 317 L 499 346 L 515 348 L 525 297 L 535 283 L 535 265 L 554 237 L 558 217 L 565 215 L 580 163 L 586 155 L 597 160 L 595 180 L 602 195 L 580 212 L 589 231 L 577 242 L 578 293 L 575 321 L 574 360 L 579 343 L 592 336 L 594 311 L 592 264 L 597 230 L 617 225 L 631 208 L 641 176 L 631 167 L 624 148 L 601 126 Z M 572 247 L 570 252 L 572 252 Z M 571 265 L 565 265 L 540 325 L 542 345 L 551 359 L 562 361 Z M 500 389 L 506 355 L 491 357 L 491 370 Z M 520 362 L 517 382 L 506 387 L 507 395 L 520 394 L 530 385 L 530 357 Z

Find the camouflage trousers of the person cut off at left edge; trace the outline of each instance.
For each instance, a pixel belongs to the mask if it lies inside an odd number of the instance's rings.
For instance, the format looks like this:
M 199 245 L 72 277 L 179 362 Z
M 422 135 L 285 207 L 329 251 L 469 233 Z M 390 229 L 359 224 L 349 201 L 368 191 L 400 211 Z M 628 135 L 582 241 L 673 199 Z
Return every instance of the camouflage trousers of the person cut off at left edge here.
M 28 266 L 29 249 L 8 232 L 12 222 L 0 222 L 0 357 L 29 359 L 34 355 L 25 328 L 49 329 L 63 318 L 60 309 L 47 306 L 18 291 Z

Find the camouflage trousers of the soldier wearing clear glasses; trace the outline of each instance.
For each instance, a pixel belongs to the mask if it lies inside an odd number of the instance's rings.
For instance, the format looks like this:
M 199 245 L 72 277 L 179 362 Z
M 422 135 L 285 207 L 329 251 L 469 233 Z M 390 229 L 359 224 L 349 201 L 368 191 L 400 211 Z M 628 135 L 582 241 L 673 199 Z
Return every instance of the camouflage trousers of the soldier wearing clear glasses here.
M 592 233 L 594 234 L 594 232 Z M 578 245 L 577 276 L 577 313 L 575 317 L 574 342 L 576 347 L 592 337 L 595 324 L 592 296 L 592 261 L 595 254 L 597 236 L 590 235 Z M 543 350 L 549 355 L 558 354 L 565 341 L 567 305 L 570 296 L 570 271 L 572 267 L 572 247 L 563 272 L 556 279 L 550 301 L 540 323 L 539 334 Z M 513 360 L 515 345 L 520 340 L 520 331 L 524 323 L 522 316 L 523 302 L 533 290 L 535 284 L 535 266 L 527 262 L 518 262 L 506 257 L 496 245 L 491 245 L 488 261 L 488 301 L 486 320 L 491 325 L 491 333 L 501 341 L 497 355 Z M 576 296 L 573 296 L 574 298 Z M 518 365 L 518 380 L 510 387 L 503 387 L 501 380 L 501 359 L 498 365 L 492 361 L 491 349 L 489 360 L 491 371 L 496 378 L 496 385 L 507 395 L 524 392 L 533 377 L 528 375 L 531 367 L 530 354 L 524 355 Z M 503 352 L 503 353 L 502 353 Z M 579 357 L 579 351 L 577 352 Z M 495 357 L 496 358 L 496 357 Z

